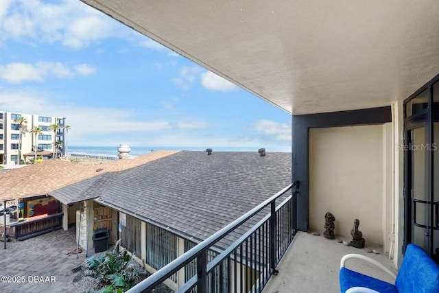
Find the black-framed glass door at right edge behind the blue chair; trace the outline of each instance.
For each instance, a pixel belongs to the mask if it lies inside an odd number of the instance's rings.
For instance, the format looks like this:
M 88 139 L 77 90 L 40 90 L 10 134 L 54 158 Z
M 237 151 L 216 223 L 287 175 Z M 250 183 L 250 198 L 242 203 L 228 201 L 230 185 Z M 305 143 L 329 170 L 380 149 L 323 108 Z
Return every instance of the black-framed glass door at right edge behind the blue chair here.
M 436 83 L 437 82 L 437 83 Z M 435 85 L 436 83 L 436 85 Z M 434 91 L 436 89 L 437 92 Z M 414 235 L 415 227 L 425 228 L 425 244 L 423 245 L 429 255 L 438 261 L 439 254 L 439 198 L 435 196 L 434 178 L 439 181 L 439 174 L 435 174 L 435 156 L 439 156 L 438 143 L 439 136 L 434 137 L 434 121 L 439 122 L 439 75 L 422 86 L 413 95 L 404 101 L 404 131 L 403 131 L 403 150 L 404 150 L 404 246 L 419 242 Z M 425 143 L 423 145 L 416 144 L 414 132 L 420 133 L 419 128 L 424 128 Z M 438 130 L 436 130 L 438 132 Z M 439 133 L 439 132 L 438 132 Z M 414 191 L 414 176 L 416 166 L 415 152 L 425 150 L 425 165 L 423 166 L 423 175 L 425 176 L 425 200 L 416 199 L 416 191 Z M 438 150 L 438 152 L 436 152 Z M 420 157 L 417 156 L 416 159 Z M 436 158 L 436 164 L 438 164 Z M 436 166 L 438 169 L 439 166 Z M 418 173 L 421 173 L 418 171 Z M 419 175 L 419 174 L 418 174 Z M 419 182 L 419 181 L 418 181 Z M 438 183 L 436 183 L 438 184 Z M 439 186 L 439 185 L 438 185 Z M 436 191 L 438 192 L 438 191 Z M 425 213 L 427 218 L 423 224 L 420 223 L 416 212 L 420 209 L 416 205 L 422 207 L 427 204 Z M 419 207 L 419 206 L 418 206 Z M 436 239 L 436 241 L 435 241 Z

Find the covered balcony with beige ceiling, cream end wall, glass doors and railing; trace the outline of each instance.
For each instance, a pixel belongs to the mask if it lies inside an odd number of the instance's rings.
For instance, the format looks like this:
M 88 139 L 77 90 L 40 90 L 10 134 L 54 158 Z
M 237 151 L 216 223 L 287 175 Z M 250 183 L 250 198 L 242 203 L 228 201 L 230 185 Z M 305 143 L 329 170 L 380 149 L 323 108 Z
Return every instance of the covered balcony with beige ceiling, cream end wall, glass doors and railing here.
M 215 250 L 215 259 L 206 253 L 224 235 L 134 292 L 193 259 L 198 277 L 181 290 L 215 283 L 218 292 L 281 292 L 283 274 L 296 266 L 303 274 L 287 277 L 292 286 L 319 292 L 305 288 L 334 285 L 336 259 L 353 249 L 303 234 L 322 229 L 327 211 L 344 237 L 358 218 L 366 242 L 379 244 L 374 256 L 389 253 L 394 268 L 410 243 L 438 257 L 437 1 L 83 1 L 292 115 L 292 182 L 300 182 L 300 191 L 294 195 L 295 185 L 290 192 L 287 218 L 281 202 L 265 202 L 261 209 L 270 213 L 260 226 Z M 320 245 L 328 247 L 326 258 Z M 309 261 L 297 257 L 303 246 L 318 250 Z M 311 279 L 316 272 L 322 274 Z

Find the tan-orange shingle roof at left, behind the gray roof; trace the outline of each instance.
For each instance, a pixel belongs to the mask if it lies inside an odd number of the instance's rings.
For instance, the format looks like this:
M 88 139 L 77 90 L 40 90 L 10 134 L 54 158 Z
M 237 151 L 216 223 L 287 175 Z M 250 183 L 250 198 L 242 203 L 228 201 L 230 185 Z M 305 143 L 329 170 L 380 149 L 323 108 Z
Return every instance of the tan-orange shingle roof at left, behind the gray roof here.
M 61 160 L 47 160 L 9 172 L 0 173 L 0 200 L 25 198 L 49 192 L 73 183 L 87 185 L 91 178 L 106 172 L 115 172 L 145 164 L 174 154 L 176 151 L 157 151 L 134 159 L 108 161 L 98 165 L 84 165 Z M 102 171 L 97 172 L 97 169 Z M 82 190 L 82 187 L 73 187 Z M 71 193 L 66 195 L 71 196 Z

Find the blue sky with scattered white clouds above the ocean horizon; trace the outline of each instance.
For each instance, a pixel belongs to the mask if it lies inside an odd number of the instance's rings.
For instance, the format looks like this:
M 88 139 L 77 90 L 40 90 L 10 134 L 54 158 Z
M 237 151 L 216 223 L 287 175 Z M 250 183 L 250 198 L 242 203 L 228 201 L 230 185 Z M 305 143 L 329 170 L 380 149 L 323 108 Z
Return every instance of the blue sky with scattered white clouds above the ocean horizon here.
M 69 145 L 291 145 L 288 113 L 78 0 L 0 1 L 0 110 Z

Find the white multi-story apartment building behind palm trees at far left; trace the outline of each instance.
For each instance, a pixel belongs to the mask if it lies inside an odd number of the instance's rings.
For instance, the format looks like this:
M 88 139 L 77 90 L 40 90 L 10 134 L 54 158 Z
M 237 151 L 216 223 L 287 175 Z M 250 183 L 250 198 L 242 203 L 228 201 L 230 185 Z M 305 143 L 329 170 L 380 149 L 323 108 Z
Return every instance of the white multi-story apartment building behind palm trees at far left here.
M 23 128 L 17 120 L 23 117 L 26 123 Z M 57 124 L 60 129 L 56 132 L 50 130 L 51 124 Z M 19 164 L 24 159 L 23 154 L 32 152 L 36 149 L 54 152 L 58 148 L 58 154 L 64 155 L 64 126 L 65 117 L 32 115 L 23 113 L 3 112 L 0 110 L 0 164 Z M 30 132 L 32 128 L 39 127 L 40 134 L 36 136 Z M 21 135 L 21 152 L 20 152 Z M 54 145 L 54 141 L 60 141 Z

